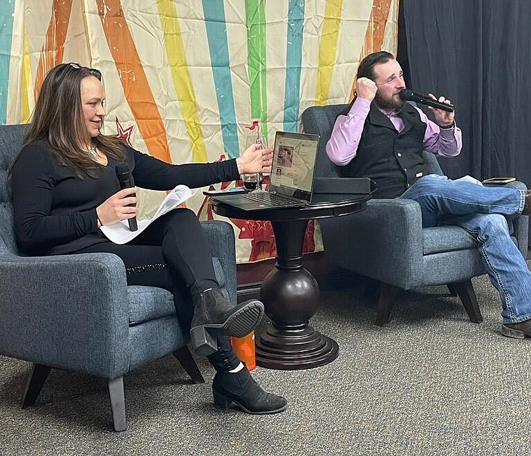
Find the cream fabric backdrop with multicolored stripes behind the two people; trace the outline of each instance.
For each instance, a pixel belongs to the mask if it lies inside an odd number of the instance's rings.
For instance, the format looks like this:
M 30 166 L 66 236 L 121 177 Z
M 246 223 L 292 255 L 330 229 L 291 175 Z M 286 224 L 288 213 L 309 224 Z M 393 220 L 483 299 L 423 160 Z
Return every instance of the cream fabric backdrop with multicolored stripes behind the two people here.
M 1 0 L 0 124 L 29 122 L 47 71 L 77 61 L 102 71 L 106 133 L 167 162 L 235 158 L 252 120 L 272 142 L 304 108 L 347 102 L 397 21 L 398 0 Z M 162 197 L 141 192 L 144 216 Z M 188 206 L 214 216 L 201 191 Z M 239 262 L 275 255 L 268 222 L 230 221 Z

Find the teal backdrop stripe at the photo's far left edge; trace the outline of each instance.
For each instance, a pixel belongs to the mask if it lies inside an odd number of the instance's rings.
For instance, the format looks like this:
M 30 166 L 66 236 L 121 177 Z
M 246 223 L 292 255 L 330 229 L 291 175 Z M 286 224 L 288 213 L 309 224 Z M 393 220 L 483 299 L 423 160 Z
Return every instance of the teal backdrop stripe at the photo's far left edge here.
M 9 64 L 15 0 L 0 1 L 0 125 L 6 124 L 8 117 Z

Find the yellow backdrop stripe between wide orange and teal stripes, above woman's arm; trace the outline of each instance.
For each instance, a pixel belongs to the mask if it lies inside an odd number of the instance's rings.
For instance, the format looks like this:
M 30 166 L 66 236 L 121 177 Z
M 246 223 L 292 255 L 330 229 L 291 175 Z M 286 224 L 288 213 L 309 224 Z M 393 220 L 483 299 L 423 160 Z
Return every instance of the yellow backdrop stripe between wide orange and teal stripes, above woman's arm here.
M 201 130 L 196 96 L 192 87 L 192 78 L 188 71 L 185 47 L 180 32 L 175 3 L 173 0 L 157 0 L 157 6 L 160 21 L 162 22 L 162 31 L 164 32 L 164 42 L 171 77 L 174 81 L 181 111 L 183 111 L 194 162 L 206 162 L 207 150 L 205 140 L 203 139 L 203 131 Z

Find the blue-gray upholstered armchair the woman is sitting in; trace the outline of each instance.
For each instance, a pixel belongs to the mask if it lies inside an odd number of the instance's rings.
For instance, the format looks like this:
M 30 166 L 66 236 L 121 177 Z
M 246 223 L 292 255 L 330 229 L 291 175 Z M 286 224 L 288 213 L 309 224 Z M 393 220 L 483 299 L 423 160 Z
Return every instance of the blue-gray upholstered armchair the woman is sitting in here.
M 19 254 L 6 178 L 25 130 L 0 126 L 0 354 L 33 363 L 23 407 L 35 403 L 50 368 L 107 379 L 114 428 L 125 430 L 123 376 L 130 370 L 173 353 L 194 383 L 204 381 L 186 346 L 189 334 L 171 293 L 127 286 L 118 256 Z M 232 227 L 218 221 L 203 227 L 216 277 L 236 303 Z

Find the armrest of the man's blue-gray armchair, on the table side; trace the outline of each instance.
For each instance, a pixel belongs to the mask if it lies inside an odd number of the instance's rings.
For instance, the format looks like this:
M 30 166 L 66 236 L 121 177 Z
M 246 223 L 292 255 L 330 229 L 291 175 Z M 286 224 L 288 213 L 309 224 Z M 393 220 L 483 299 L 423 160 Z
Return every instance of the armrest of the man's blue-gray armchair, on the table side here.
M 333 263 L 404 289 L 420 283 L 422 214 L 417 202 L 369 200 L 364 211 L 319 224 L 325 255 Z

